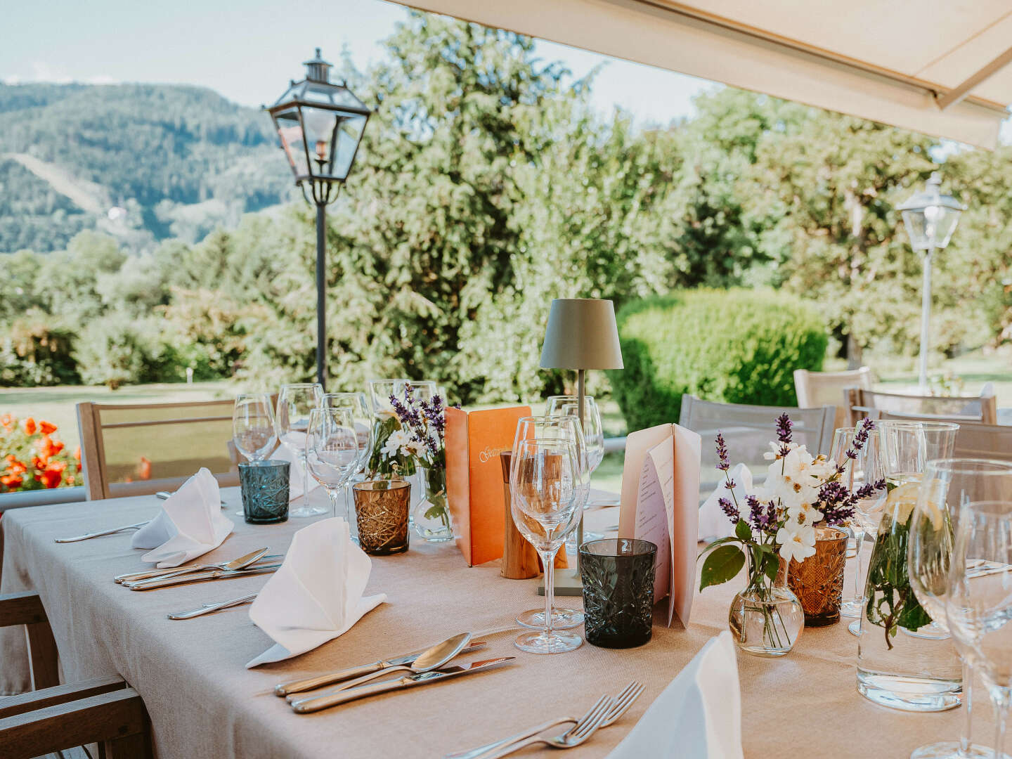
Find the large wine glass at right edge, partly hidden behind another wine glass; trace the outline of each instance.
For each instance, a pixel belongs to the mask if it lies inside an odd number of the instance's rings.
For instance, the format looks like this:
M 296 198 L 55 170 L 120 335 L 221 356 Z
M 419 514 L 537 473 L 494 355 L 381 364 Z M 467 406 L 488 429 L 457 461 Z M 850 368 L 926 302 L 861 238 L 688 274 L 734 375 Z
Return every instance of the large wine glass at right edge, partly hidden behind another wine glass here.
M 997 478 L 997 480 L 996 480 Z M 924 468 L 917 505 L 910 520 L 907 550 L 910 587 L 934 622 L 949 632 L 945 601 L 949 595 L 952 542 L 961 519 L 960 506 L 990 497 L 994 484 L 1012 482 L 1012 463 L 974 458 L 943 458 Z M 962 705 L 964 720 L 958 742 L 946 741 L 921 746 L 911 759 L 967 759 L 990 757 L 991 749 L 971 741 L 973 720 L 973 661 L 959 638 L 953 638 L 962 660 Z

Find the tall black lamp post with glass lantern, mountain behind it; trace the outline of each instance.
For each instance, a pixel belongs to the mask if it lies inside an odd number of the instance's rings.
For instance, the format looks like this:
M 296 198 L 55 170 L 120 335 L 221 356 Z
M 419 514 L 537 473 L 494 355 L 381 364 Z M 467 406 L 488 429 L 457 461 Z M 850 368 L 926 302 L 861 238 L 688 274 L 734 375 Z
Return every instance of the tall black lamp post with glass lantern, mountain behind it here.
M 344 82 L 330 81 L 330 64 L 307 61 L 306 78 L 292 80 L 269 108 L 281 149 L 303 196 L 317 206 L 317 382 L 327 384 L 327 205 L 348 177 L 372 111 Z

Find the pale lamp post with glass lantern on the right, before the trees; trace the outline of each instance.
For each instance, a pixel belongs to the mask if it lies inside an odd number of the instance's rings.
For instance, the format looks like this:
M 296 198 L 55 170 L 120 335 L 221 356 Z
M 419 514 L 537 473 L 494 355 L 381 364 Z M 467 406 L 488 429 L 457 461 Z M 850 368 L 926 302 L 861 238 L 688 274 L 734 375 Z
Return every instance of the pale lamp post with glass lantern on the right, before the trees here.
M 924 254 L 924 284 L 921 288 L 921 356 L 918 387 L 928 394 L 929 319 L 931 317 L 931 259 L 936 250 L 944 250 L 966 209 L 951 195 L 941 193 L 941 175 L 936 171 L 927 186 L 915 192 L 900 206 L 903 223 L 914 250 Z

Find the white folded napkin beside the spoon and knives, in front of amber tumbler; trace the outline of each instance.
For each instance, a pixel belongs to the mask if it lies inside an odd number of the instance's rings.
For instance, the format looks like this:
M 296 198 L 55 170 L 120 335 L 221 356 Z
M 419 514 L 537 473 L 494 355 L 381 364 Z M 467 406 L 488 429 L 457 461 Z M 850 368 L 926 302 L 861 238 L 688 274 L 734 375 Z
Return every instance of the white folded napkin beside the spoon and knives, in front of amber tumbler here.
M 296 532 L 284 562 L 250 607 L 250 619 L 275 645 L 246 666 L 289 659 L 347 632 L 387 600 L 385 593 L 362 595 L 371 568 L 341 517 Z

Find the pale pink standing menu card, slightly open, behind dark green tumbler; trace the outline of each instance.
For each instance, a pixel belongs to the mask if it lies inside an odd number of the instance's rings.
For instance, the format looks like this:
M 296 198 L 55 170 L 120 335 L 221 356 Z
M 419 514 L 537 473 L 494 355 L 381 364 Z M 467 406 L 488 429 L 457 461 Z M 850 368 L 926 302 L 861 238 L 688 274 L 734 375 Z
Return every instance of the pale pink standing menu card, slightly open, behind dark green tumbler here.
M 673 612 L 689 623 L 695 588 L 699 530 L 701 440 L 692 430 L 662 424 L 625 438 L 618 536 L 657 545 L 654 602 L 668 596 Z

